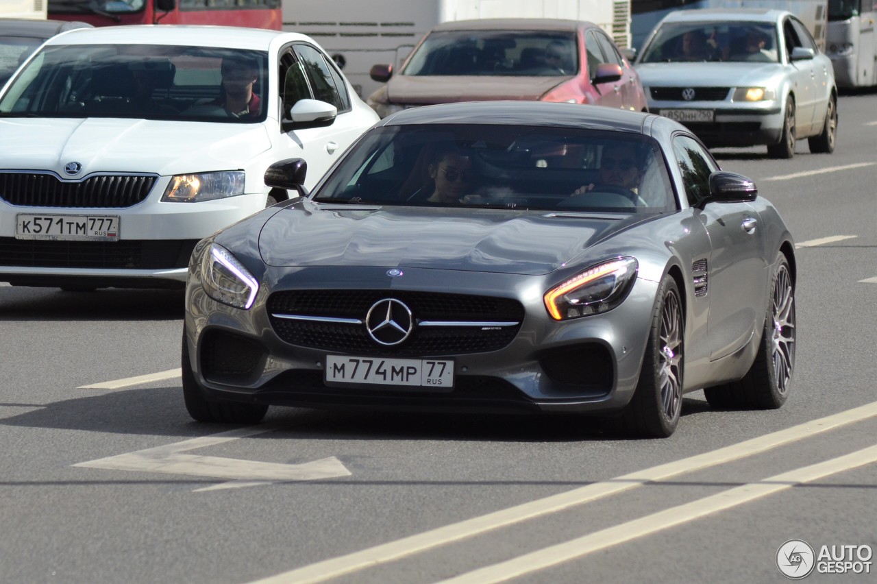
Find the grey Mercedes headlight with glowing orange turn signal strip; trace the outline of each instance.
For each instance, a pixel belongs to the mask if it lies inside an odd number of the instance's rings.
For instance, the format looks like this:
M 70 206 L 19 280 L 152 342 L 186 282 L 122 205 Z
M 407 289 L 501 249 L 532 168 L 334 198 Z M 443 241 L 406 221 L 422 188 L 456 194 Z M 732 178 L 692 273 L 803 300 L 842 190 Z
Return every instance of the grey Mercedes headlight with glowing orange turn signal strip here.
M 637 260 L 631 257 L 588 267 L 545 292 L 545 308 L 554 320 L 587 317 L 612 310 L 631 291 L 638 267 Z

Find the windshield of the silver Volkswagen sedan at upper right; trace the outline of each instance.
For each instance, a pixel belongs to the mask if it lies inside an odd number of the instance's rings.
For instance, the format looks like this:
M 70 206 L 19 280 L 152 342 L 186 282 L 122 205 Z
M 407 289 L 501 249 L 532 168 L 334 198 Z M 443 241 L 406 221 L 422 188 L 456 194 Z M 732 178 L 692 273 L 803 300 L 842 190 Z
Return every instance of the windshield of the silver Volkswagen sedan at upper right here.
M 643 50 L 638 63 L 677 61 L 779 62 L 776 31 L 770 23 L 666 23 Z

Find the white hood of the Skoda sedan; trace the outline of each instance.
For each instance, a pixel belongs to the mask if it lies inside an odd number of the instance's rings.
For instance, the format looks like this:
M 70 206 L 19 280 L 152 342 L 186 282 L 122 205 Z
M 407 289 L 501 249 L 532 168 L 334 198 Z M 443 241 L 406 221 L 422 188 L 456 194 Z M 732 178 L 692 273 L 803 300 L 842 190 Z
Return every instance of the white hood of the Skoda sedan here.
M 241 167 L 270 146 L 260 124 L 124 118 L 4 118 L 5 168 L 52 170 L 68 162 L 92 172 L 179 174 Z

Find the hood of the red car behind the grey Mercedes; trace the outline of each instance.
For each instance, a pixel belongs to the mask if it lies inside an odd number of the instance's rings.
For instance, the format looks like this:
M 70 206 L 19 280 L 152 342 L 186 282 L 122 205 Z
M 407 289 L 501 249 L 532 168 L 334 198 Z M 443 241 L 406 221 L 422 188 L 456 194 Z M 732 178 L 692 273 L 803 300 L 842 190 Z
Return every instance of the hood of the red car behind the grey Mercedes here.
M 545 92 L 569 79 L 560 77 L 413 76 L 389 80 L 387 96 L 392 103 L 453 103 L 486 100 L 536 101 Z

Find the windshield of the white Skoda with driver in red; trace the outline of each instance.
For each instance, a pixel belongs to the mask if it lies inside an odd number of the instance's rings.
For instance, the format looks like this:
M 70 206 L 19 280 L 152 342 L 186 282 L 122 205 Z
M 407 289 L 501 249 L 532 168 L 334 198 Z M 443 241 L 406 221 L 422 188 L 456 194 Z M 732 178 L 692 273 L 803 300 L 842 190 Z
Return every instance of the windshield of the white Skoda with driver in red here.
M 0 96 L 0 116 L 258 122 L 267 53 L 203 46 L 45 46 Z

